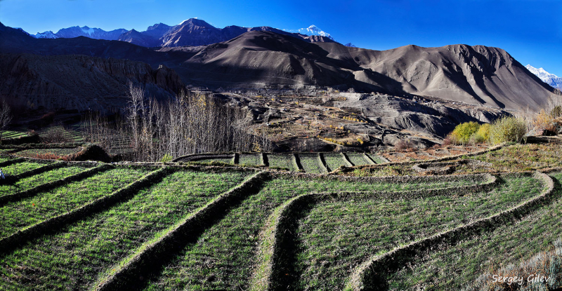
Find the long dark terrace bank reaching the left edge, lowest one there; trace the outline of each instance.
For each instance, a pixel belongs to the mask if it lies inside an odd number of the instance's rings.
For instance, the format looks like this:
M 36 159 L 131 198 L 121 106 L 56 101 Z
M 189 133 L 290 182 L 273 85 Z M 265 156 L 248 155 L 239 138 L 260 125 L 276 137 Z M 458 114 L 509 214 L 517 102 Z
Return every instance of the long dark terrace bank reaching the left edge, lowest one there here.
M 155 170 L 148 173 L 147 175 L 144 175 L 135 182 L 132 182 L 131 184 L 128 184 L 121 189 L 113 191 L 107 196 L 103 196 L 94 201 L 91 201 L 90 203 L 86 203 L 86 205 L 81 205 L 79 208 L 74 208 L 73 210 L 63 213 L 62 215 L 51 217 L 42 222 L 38 222 L 37 224 L 27 226 L 25 229 L 21 229 L 11 236 L 2 238 L 0 239 L 0 253 L 7 252 L 8 250 L 12 250 L 13 248 L 17 248 L 18 246 L 25 243 L 25 241 L 29 241 L 34 237 L 40 236 L 42 234 L 47 234 L 51 231 L 55 231 L 67 224 L 76 222 L 80 219 L 84 219 L 85 217 L 88 217 L 93 213 L 110 208 L 112 205 L 115 205 L 115 203 L 124 201 L 127 198 L 134 196 L 134 194 L 136 194 L 138 190 L 148 187 L 150 184 L 156 182 L 157 180 L 161 180 L 172 170 L 174 169 L 161 168 Z

